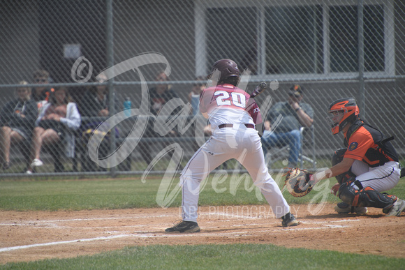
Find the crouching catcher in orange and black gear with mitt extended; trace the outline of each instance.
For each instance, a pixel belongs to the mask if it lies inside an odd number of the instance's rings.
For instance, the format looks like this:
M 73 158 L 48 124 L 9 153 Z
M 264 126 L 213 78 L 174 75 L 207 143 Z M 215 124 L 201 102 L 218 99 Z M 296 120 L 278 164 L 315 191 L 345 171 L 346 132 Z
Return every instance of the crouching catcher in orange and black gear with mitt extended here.
M 330 169 L 310 174 L 293 169 L 287 175 L 287 188 L 294 195 L 305 195 L 323 179 L 337 177 L 332 193 L 343 201 L 334 208 L 338 213 L 367 213 L 367 207 L 383 209 L 387 216 L 399 216 L 405 201 L 381 193 L 397 186 L 401 177 L 397 151 L 377 128 L 360 119 L 354 98 L 341 98 L 329 105 L 332 134 L 344 133 L 346 149 L 338 150 Z M 341 158 L 338 158 L 338 157 Z M 404 171 L 402 171 L 404 172 Z M 288 184 L 289 183 L 289 184 Z M 293 191 L 291 191 L 293 190 Z

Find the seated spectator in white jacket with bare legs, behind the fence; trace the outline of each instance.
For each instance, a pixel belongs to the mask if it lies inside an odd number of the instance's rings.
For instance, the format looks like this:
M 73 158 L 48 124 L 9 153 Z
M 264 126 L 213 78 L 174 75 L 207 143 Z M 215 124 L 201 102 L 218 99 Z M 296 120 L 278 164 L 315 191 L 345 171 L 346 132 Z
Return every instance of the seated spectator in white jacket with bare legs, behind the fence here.
M 27 173 L 33 172 L 34 167 L 43 165 L 40 160 L 40 150 L 43 145 L 59 144 L 65 146 L 65 154 L 73 158 L 75 154 L 74 131 L 80 127 L 81 118 L 76 104 L 71 102 L 66 87 L 59 87 L 50 94 L 49 103 L 36 119 L 36 127 L 32 136 L 32 163 Z

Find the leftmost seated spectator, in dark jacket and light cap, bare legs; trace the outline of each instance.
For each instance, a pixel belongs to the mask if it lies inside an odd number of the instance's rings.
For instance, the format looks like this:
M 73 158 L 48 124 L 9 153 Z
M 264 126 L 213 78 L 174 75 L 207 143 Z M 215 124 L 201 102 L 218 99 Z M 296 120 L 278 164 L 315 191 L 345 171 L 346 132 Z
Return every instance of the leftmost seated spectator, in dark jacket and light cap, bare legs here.
M 10 146 L 22 144 L 31 138 L 38 117 L 36 102 L 30 99 L 31 89 L 24 87 L 28 82 L 22 81 L 19 84 L 21 87 L 15 90 L 17 98 L 7 103 L 0 113 L 0 158 L 3 170 L 10 167 Z

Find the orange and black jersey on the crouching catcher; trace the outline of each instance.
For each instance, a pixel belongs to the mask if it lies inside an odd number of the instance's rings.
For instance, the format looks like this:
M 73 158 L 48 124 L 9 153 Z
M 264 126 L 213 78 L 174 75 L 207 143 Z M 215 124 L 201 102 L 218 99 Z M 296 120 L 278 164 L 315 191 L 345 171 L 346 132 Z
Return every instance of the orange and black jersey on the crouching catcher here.
M 398 155 L 390 140 L 380 130 L 357 119 L 348 129 L 344 146 L 348 147 L 344 157 L 367 163 L 370 167 L 384 165 L 388 161 L 398 162 Z

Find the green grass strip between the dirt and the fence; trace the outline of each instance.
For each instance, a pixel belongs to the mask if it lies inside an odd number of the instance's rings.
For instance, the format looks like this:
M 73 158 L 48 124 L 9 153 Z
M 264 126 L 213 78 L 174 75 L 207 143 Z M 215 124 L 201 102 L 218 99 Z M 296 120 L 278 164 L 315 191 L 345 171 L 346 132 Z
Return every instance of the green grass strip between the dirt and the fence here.
M 214 178 L 214 181 L 213 181 Z M 224 180 L 226 179 L 226 180 Z M 278 174 L 274 179 L 283 187 Z M 404 178 L 405 179 L 405 178 Z M 389 190 L 389 194 L 405 198 L 405 180 Z M 222 180 L 224 180 L 222 182 Z M 170 193 L 177 188 L 179 179 L 173 179 Z M 89 180 L 10 180 L 0 181 L 0 209 L 3 210 L 83 210 L 83 209 L 125 209 L 133 207 L 159 207 L 157 193 L 164 181 L 150 176 L 142 183 L 140 177 L 131 179 L 89 179 Z M 315 186 L 309 195 L 296 198 L 286 190 L 283 195 L 290 204 L 313 202 L 338 202 L 330 194 L 330 187 L 336 183 L 327 179 Z M 161 196 L 159 196 L 161 197 Z M 159 201 L 159 200 L 158 200 Z M 266 204 L 263 196 L 245 174 L 232 175 L 223 179 L 209 177 L 200 194 L 200 205 L 244 205 Z M 181 193 L 174 197 L 170 207 L 179 207 Z

